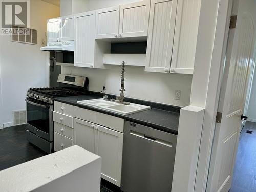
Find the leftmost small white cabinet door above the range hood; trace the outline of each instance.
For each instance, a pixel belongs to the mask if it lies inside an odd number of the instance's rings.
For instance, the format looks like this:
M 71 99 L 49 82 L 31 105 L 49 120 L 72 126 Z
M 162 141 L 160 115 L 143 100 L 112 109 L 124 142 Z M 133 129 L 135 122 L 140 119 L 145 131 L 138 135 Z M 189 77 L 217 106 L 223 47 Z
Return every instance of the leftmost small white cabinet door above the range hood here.
M 57 42 L 60 36 L 61 19 L 53 18 L 49 19 L 47 23 L 47 40 L 48 42 Z

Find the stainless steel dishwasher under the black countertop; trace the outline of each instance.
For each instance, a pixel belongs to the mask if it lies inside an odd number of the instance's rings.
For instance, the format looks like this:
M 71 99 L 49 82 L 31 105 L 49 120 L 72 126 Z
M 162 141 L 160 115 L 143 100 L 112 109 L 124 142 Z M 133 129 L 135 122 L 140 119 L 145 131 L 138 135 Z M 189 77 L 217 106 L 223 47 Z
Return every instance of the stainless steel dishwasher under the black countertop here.
M 170 192 L 177 135 L 125 121 L 121 190 Z

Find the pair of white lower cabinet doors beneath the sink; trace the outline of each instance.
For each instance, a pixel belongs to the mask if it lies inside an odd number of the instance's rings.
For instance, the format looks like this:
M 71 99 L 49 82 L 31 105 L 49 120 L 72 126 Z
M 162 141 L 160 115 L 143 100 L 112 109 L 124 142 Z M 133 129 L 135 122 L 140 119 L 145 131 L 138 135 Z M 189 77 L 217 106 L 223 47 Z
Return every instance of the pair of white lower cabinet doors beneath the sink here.
M 101 177 L 120 187 L 123 133 L 74 118 L 74 144 L 102 158 Z

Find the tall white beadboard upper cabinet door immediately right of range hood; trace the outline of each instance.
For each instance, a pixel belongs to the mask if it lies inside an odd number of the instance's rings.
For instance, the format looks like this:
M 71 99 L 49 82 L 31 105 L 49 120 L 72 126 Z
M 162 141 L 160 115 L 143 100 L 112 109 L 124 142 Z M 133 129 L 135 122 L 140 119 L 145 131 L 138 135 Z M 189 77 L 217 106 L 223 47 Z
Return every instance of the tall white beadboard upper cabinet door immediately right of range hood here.
M 74 66 L 94 67 L 95 11 L 75 15 Z

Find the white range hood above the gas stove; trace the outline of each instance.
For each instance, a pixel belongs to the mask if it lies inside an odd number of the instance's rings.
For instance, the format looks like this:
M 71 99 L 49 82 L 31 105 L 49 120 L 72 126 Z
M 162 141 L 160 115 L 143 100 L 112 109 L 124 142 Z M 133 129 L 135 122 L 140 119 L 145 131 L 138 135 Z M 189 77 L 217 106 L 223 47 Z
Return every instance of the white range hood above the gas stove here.
M 74 51 L 74 41 L 49 42 L 42 51 Z

